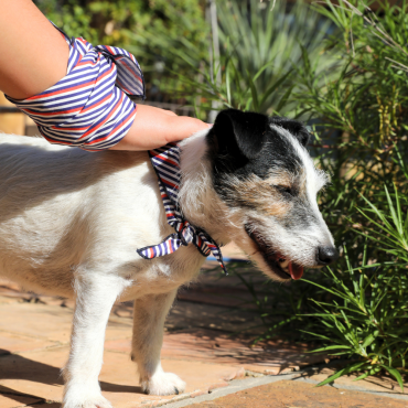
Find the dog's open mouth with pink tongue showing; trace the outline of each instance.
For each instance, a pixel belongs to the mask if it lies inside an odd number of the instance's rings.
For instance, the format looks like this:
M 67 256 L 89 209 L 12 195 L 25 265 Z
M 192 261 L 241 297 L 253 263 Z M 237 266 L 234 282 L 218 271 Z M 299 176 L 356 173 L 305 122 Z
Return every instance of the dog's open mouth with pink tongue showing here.
M 268 245 L 262 237 L 253 226 L 249 224 L 245 225 L 245 230 L 249 238 L 255 243 L 258 251 L 262 255 L 265 261 L 269 268 L 281 279 L 298 280 L 303 276 L 303 267 L 298 265 L 290 259 L 283 257 L 279 251 L 275 250 Z

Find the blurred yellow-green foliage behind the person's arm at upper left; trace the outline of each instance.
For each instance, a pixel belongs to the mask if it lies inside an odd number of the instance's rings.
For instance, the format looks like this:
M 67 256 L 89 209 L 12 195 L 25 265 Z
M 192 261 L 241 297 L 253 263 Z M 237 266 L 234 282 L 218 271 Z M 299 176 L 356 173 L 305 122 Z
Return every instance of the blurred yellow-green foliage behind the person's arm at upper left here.
M 174 99 L 182 90 L 176 72 L 191 68 L 173 46 L 184 39 L 196 55 L 207 52 L 208 28 L 200 0 L 34 0 L 69 36 L 93 44 L 120 46 L 133 53 L 143 71 L 149 97 Z M 181 94 L 181 93 L 180 93 Z M 174 100 L 171 100 L 174 101 Z

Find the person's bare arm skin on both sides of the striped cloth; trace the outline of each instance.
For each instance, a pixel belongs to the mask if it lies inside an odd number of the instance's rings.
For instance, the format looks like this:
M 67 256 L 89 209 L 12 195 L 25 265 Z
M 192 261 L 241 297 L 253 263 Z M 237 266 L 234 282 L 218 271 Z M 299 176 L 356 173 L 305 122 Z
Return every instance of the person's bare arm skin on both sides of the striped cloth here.
M 37 95 L 62 79 L 68 45 L 31 0 L 0 0 L 0 89 L 14 99 Z M 126 136 L 111 149 L 148 150 L 207 129 L 198 119 L 139 105 Z

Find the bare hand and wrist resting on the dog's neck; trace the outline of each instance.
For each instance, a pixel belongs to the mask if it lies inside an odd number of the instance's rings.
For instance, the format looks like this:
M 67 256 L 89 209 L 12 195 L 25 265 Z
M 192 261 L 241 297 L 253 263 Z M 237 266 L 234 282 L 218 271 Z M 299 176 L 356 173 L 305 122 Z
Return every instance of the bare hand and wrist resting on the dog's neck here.
M 208 129 L 200 119 L 176 116 L 147 105 L 138 105 L 132 127 L 111 150 L 150 150 Z

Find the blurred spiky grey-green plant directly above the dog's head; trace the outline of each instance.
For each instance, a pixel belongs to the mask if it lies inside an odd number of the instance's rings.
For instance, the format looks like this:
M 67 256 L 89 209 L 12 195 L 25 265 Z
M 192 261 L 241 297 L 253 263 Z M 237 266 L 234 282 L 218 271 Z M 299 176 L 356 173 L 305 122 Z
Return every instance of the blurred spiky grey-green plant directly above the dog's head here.
M 197 55 L 194 44 L 185 40 L 173 47 L 196 73 L 180 75 L 180 80 L 198 98 L 200 109 L 214 109 L 215 101 L 218 109 L 293 115 L 298 105 L 290 99 L 298 90 L 294 66 L 302 64 L 303 52 L 316 63 L 318 73 L 332 69 L 336 62 L 330 51 L 320 58 L 329 20 L 302 1 L 289 14 L 286 1 L 276 2 L 273 9 L 271 2 L 258 0 L 216 4 L 219 61 Z

